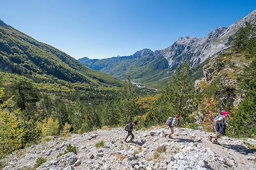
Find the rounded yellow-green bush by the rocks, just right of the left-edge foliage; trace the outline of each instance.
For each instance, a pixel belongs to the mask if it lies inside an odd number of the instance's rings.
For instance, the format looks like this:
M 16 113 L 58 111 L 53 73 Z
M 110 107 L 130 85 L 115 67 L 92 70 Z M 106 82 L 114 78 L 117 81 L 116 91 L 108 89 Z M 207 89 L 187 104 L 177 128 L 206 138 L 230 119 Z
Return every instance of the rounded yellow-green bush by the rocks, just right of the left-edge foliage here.
M 59 133 L 59 121 L 49 117 L 45 118 L 42 123 L 38 123 L 42 136 L 56 136 Z

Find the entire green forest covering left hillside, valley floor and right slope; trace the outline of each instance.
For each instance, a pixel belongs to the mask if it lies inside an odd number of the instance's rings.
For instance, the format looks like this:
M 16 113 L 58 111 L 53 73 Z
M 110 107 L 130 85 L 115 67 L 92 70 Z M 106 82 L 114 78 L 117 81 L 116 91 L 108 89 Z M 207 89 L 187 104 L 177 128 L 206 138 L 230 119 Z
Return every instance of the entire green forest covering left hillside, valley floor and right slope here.
M 232 48 L 216 62 L 219 67 L 234 57 L 244 60 L 248 64 L 242 74 L 222 73 L 220 68 L 220 77 L 201 83 L 202 90 L 196 92 L 196 70 L 185 62 L 161 92 L 148 94 L 129 77 L 122 82 L 92 71 L 56 48 L 0 24 L 0 157 L 45 136 L 124 127 L 134 120 L 141 129 L 164 125 L 168 117 L 180 115 L 182 127 L 196 128 L 198 111 L 204 115 L 205 130 L 212 131 L 212 118 L 221 109 L 231 115 L 229 136 L 256 138 L 255 25 L 240 29 Z M 236 108 L 218 98 L 221 76 L 235 78 L 245 91 Z

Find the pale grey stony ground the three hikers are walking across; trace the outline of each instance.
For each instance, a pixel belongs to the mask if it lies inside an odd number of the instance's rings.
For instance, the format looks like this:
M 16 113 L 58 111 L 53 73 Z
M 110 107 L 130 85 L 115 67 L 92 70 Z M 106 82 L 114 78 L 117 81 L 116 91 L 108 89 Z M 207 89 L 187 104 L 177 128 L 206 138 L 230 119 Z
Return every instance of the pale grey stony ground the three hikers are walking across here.
M 37 169 L 256 169 L 255 152 L 246 141 L 223 137 L 220 145 L 211 143 L 209 133 L 175 128 L 173 139 L 163 137 L 164 128 L 134 132 L 134 143 L 125 143 L 123 129 L 97 130 L 72 134 L 68 138 L 33 145 L 8 155 L 1 162 L 7 169 L 32 169 L 36 159 L 47 162 Z M 95 144 L 104 141 L 102 147 Z M 67 145 L 76 146 L 77 154 L 66 153 Z M 57 158 L 58 157 L 58 158 Z

